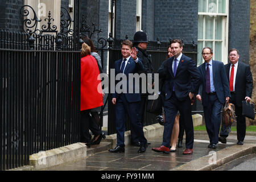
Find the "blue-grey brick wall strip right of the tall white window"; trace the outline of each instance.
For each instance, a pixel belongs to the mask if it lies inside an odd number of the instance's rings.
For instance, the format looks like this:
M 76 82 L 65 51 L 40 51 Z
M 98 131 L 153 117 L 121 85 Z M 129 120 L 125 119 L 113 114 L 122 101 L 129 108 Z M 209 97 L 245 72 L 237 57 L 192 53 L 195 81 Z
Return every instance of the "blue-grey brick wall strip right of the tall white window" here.
M 240 51 L 240 61 L 249 63 L 250 0 L 229 1 L 229 49 Z

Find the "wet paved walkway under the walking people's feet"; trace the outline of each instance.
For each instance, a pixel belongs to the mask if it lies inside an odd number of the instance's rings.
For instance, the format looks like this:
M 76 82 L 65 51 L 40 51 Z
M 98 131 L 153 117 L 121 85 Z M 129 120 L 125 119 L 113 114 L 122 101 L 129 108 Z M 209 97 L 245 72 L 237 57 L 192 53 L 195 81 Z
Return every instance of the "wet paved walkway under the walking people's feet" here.
M 185 140 L 185 139 L 184 139 Z M 230 135 L 227 144 L 218 144 L 217 149 L 208 148 L 209 139 L 207 135 L 195 135 L 193 154 L 183 155 L 185 144 L 182 148 L 176 148 L 176 152 L 163 154 L 152 151 L 152 147 L 159 147 L 162 137 L 148 139 L 151 144 L 146 152 L 139 154 L 139 147 L 127 145 L 125 153 L 110 153 L 108 150 L 87 156 L 85 159 L 61 164 L 59 166 L 44 169 L 45 171 L 168 171 L 182 166 L 192 160 L 220 151 L 224 148 L 234 146 L 237 142 L 236 135 Z M 245 143 L 256 143 L 255 136 L 246 136 Z M 102 140 L 101 144 L 104 144 Z M 93 146 L 97 147 L 97 146 Z M 254 159 L 255 158 L 250 158 Z M 229 168 L 218 168 L 229 170 Z

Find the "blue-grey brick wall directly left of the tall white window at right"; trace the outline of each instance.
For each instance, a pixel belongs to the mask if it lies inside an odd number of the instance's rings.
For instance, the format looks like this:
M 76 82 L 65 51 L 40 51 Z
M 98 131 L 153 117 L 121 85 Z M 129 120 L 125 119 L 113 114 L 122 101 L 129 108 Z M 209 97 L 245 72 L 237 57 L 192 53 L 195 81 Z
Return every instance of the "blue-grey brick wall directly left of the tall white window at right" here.
M 184 43 L 197 44 L 196 0 L 155 1 L 155 39 L 168 41 L 169 38 L 184 39 Z

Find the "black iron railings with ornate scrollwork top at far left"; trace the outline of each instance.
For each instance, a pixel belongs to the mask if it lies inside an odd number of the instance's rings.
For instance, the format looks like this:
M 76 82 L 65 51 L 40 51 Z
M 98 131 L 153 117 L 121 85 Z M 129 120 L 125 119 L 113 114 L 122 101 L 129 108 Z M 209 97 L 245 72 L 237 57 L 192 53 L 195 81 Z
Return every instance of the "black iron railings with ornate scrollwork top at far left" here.
M 20 10 L 24 32 L 0 31 L 0 170 L 79 142 L 80 1 L 75 7 L 74 20 L 61 8 L 60 32 L 51 12 L 39 28 L 42 20 L 28 5 Z

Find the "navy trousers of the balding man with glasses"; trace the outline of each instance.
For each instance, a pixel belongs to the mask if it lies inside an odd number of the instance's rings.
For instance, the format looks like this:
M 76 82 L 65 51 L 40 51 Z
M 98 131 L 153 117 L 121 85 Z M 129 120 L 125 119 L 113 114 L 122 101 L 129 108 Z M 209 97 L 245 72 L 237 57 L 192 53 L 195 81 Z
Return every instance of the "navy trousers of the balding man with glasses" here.
M 218 101 L 217 94 L 208 95 L 208 104 L 204 106 L 205 127 L 210 139 L 210 143 L 218 143 L 218 133 L 220 132 L 222 104 Z

